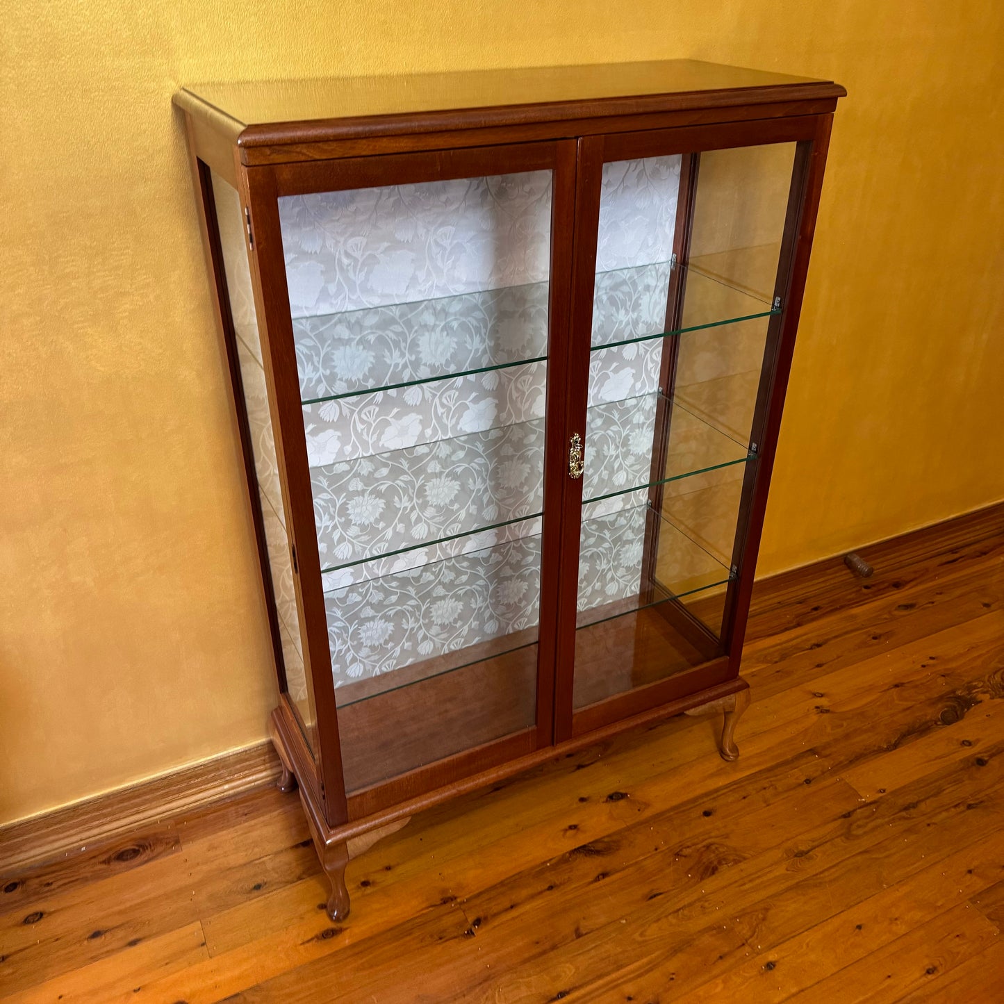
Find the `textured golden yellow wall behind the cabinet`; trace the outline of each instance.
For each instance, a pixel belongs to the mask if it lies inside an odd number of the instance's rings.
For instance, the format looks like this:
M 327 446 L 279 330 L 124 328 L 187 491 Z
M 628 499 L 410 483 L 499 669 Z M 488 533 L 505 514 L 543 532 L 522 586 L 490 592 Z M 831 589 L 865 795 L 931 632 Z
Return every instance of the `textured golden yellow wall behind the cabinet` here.
M 760 573 L 1004 497 L 997 0 L 2 0 L 0 25 L 0 822 L 252 743 L 274 699 L 185 81 L 838 80 Z

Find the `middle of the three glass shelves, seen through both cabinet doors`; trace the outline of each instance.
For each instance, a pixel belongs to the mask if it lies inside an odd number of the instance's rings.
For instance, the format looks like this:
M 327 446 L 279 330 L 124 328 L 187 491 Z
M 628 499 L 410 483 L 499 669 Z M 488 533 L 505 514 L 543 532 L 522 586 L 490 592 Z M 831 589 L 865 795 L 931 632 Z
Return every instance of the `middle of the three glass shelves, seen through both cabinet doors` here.
M 588 409 L 586 501 L 742 464 L 748 449 L 674 405 L 665 476 L 651 480 L 658 393 Z M 388 451 L 311 471 L 322 574 L 539 517 L 544 420 Z

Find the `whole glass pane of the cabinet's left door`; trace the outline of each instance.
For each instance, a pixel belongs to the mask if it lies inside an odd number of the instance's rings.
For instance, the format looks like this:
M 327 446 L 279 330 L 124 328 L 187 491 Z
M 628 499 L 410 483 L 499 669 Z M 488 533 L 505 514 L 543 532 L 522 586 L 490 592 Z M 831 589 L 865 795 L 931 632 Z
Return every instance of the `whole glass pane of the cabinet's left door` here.
M 279 200 L 346 790 L 536 722 L 551 173 Z

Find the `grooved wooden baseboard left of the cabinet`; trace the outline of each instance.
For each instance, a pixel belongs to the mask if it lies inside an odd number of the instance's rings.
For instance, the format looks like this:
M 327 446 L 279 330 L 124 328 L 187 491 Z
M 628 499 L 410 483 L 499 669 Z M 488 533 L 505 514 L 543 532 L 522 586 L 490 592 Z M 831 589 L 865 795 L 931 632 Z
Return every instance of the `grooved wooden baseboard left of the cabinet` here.
M 281 764 L 271 741 L 0 827 L 0 878 L 95 843 L 266 787 Z

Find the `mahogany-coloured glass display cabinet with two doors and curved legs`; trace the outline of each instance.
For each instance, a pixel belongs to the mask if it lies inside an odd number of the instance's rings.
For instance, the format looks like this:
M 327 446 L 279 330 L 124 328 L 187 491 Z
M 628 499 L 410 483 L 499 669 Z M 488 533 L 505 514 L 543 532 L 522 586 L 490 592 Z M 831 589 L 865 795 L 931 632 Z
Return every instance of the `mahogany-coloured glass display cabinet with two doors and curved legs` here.
M 740 656 L 838 85 L 696 62 L 207 84 L 184 112 L 328 911 L 418 809 Z

